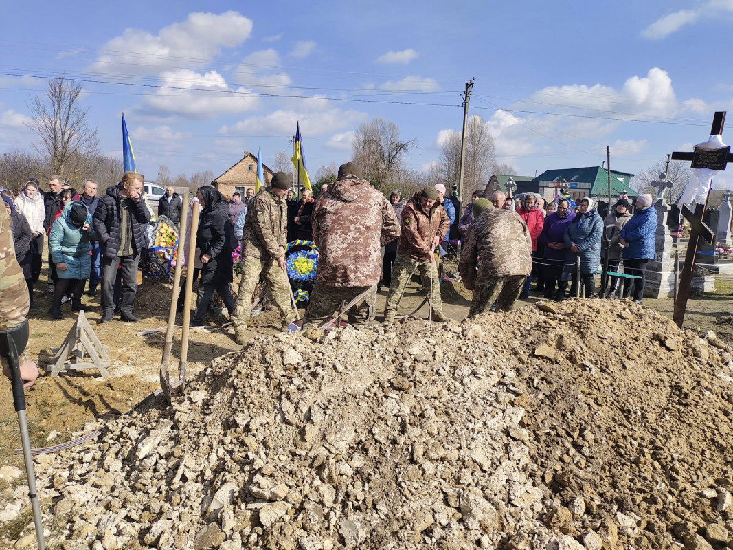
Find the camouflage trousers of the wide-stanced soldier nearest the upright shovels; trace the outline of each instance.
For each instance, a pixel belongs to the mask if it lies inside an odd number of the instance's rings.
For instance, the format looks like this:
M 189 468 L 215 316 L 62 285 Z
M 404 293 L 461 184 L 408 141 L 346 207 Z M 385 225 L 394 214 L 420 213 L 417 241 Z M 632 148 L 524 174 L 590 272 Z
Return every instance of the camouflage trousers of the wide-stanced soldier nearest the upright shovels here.
M 260 260 L 256 257 L 245 256 L 242 282 L 239 285 L 234 313 L 231 315 L 235 331 L 243 331 L 247 328 L 252 311 L 252 295 L 259 282 L 259 274 L 262 274 L 265 284 L 270 287 L 270 293 L 275 299 L 275 306 L 280 312 L 281 320 L 295 319 L 295 312 L 290 305 L 290 283 L 287 281 L 285 272 L 280 269 L 275 260 Z

